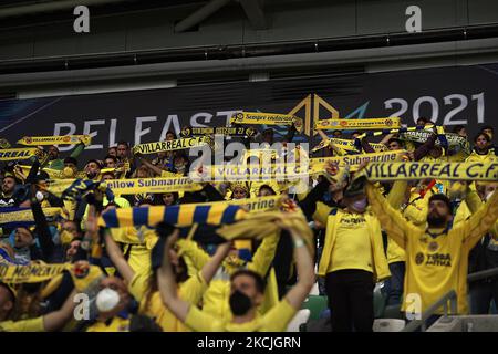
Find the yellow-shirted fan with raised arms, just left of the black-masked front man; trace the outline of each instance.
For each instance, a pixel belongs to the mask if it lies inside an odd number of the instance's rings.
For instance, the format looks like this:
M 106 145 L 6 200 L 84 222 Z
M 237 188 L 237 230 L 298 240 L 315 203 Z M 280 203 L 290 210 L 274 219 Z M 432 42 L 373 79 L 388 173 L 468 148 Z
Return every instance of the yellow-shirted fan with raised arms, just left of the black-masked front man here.
M 148 270 L 134 271 L 108 233 L 105 236 L 107 253 L 126 281 L 129 292 L 139 302 L 138 312 L 154 319 L 165 332 L 186 332 L 188 327 L 178 321 L 169 309 L 163 304 L 159 292 L 157 291 L 158 285 L 156 280 L 157 270 L 163 261 L 165 237 L 172 232 L 176 235 L 178 230 L 174 230 L 164 222 L 159 223 L 156 229 L 162 237 L 152 249 L 149 256 L 152 267 Z M 216 253 L 193 277 L 188 277 L 184 257 L 179 257 L 177 250 L 172 250 L 169 261 L 175 269 L 175 277 L 178 283 L 178 296 L 189 303 L 197 304 L 229 249 L 230 243 L 219 246 Z

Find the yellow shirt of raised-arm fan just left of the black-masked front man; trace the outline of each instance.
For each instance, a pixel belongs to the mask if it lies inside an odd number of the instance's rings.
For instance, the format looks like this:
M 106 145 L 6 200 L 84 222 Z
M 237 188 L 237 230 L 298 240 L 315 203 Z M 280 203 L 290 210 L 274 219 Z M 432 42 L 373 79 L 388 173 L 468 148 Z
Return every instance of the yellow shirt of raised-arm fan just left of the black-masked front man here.
M 138 312 L 154 319 L 164 332 L 189 332 L 190 330 L 163 304 L 158 291 L 148 294 L 149 281 L 151 273 L 135 273 L 128 284 L 129 293 L 139 302 Z M 198 272 L 179 284 L 178 296 L 196 305 L 199 303 L 206 289 L 207 283 L 201 273 Z

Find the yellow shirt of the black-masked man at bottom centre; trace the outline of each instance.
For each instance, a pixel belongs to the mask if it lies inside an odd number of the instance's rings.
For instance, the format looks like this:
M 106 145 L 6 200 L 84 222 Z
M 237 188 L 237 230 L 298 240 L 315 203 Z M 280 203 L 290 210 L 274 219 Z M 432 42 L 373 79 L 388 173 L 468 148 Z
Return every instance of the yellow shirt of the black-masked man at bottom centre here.
M 196 332 L 284 332 L 298 310 L 283 299 L 264 315 L 246 323 L 231 323 L 190 306 L 185 323 Z

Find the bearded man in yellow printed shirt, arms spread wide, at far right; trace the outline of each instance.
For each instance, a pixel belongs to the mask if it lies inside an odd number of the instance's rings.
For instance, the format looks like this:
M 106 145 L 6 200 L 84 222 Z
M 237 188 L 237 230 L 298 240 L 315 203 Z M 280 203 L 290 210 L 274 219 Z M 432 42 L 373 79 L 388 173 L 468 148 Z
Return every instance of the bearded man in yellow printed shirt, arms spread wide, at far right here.
M 409 303 L 418 299 L 419 309 L 411 312 L 422 314 L 444 294 L 455 290 L 457 314 L 466 314 L 468 254 L 483 235 L 496 228 L 498 194 L 492 194 L 486 205 L 455 227 L 449 199 L 445 195 L 433 195 L 428 202 L 427 226 L 417 227 L 391 207 L 372 184 L 367 184 L 366 191 L 382 228 L 406 251 L 402 310 L 409 311 L 413 308 L 408 308 Z M 468 205 L 475 205 L 473 198 L 479 197 L 475 191 L 468 191 Z M 443 314 L 443 306 L 427 320 L 427 325 Z

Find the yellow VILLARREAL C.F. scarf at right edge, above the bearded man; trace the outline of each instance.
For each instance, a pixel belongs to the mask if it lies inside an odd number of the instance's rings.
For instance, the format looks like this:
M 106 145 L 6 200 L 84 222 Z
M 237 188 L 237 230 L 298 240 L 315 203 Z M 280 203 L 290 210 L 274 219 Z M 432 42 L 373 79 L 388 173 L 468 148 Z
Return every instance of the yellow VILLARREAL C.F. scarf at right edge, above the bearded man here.
M 366 176 L 372 181 L 425 178 L 497 181 L 498 163 L 374 163 L 359 176 Z

